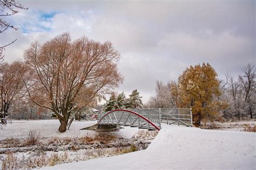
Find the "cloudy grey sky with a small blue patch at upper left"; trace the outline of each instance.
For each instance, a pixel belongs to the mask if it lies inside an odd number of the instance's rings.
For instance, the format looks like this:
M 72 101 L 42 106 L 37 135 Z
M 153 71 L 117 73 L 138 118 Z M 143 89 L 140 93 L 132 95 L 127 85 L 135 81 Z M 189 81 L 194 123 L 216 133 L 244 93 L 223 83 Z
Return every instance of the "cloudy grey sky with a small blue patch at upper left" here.
M 69 32 L 111 41 L 121 53 L 126 97 L 138 89 L 147 102 L 156 80 L 177 80 L 190 65 L 209 62 L 220 78 L 255 65 L 255 1 L 26 1 L 28 11 L 5 17 L 19 29 L 0 34 L 5 61 L 22 59 L 31 42 Z

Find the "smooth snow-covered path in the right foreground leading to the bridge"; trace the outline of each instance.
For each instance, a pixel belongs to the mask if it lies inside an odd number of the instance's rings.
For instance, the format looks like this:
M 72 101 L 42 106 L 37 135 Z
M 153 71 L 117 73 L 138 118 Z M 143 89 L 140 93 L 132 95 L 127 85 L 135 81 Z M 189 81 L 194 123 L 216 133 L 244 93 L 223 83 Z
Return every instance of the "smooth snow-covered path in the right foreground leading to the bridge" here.
M 44 169 L 255 169 L 256 133 L 164 125 L 145 151 Z

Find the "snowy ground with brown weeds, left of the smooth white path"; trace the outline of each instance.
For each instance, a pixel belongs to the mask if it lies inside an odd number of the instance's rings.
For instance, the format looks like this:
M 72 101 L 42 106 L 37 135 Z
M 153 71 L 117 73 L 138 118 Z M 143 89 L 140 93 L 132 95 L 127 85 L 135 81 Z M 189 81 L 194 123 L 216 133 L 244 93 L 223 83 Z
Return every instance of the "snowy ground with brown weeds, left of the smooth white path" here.
M 96 123 L 74 121 L 70 130 L 60 133 L 58 120 L 13 121 L 0 130 L 0 167 L 38 168 L 110 157 L 145 149 L 157 135 L 128 127 L 109 133 L 80 130 Z

